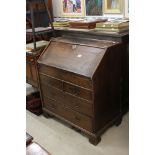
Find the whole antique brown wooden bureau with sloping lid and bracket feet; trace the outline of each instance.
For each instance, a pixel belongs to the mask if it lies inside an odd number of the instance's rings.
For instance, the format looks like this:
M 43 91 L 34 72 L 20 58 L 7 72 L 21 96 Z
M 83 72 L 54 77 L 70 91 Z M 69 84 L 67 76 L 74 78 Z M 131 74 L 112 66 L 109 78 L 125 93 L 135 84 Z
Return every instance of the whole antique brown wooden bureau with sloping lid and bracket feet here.
M 83 131 L 97 145 L 121 123 L 121 44 L 96 39 L 52 39 L 38 59 L 44 115 Z

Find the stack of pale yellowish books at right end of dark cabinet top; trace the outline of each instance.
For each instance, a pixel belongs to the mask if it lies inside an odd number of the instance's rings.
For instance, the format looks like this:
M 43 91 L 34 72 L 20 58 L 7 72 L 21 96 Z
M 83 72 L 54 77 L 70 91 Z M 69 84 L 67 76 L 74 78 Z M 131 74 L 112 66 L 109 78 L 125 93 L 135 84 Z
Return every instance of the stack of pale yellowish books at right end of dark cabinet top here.
M 115 33 L 125 32 L 129 30 L 129 21 L 122 19 L 97 23 L 95 30 Z

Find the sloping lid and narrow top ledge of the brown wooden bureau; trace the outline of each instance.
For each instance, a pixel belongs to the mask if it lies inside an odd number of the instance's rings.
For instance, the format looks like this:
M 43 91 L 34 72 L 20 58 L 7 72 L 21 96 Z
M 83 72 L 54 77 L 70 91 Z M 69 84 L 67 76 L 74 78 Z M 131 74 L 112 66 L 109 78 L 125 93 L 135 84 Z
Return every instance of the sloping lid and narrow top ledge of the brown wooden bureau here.
M 95 41 L 94 44 L 91 44 L 83 39 L 80 40 L 80 43 L 71 39 L 54 39 L 40 56 L 38 63 L 91 78 L 102 60 L 107 46 L 114 43 L 105 44 L 104 42 L 95 43 Z

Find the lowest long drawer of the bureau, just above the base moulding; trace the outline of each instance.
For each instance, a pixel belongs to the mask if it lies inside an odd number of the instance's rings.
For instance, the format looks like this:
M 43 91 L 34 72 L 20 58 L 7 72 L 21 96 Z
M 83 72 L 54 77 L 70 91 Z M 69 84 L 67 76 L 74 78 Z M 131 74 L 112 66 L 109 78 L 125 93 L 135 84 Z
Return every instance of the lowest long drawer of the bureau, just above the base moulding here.
M 43 108 L 58 114 L 66 120 L 92 132 L 92 119 L 66 107 L 63 103 L 44 97 Z

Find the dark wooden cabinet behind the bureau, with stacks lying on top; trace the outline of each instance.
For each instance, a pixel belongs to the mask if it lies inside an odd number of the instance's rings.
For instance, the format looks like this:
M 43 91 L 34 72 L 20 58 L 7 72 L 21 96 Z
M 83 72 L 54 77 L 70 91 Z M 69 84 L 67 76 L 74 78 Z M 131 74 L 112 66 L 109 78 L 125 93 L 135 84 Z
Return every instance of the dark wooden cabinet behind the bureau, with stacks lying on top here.
M 72 36 L 75 38 L 117 41 L 122 45 L 122 70 L 121 70 L 121 106 L 122 115 L 129 110 L 129 32 L 101 33 L 94 30 L 80 31 L 73 29 L 56 30 L 57 36 Z

